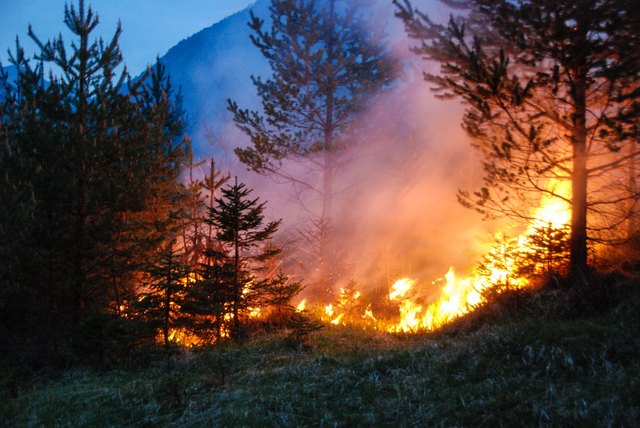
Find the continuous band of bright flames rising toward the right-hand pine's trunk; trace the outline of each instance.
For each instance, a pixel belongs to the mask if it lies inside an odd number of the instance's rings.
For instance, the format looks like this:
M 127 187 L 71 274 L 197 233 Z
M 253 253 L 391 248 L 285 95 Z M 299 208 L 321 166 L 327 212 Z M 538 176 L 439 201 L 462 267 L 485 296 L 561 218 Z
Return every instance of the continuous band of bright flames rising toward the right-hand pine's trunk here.
M 499 293 L 526 287 L 535 275 L 558 268 L 563 256 L 558 253 L 563 250 L 556 248 L 556 241 L 566 239 L 569 198 L 568 182 L 549 186 L 549 195 L 541 198 L 524 233 L 515 238 L 497 233 L 492 248 L 472 275 L 457 276 L 450 267 L 444 277 L 428 287 L 430 295 L 419 280 L 396 280 L 386 296 L 388 306 L 396 313 L 391 318 L 374 315 L 370 304 L 364 307 L 366 299 L 360 291 L 341 288 L 336 302 L 324 306 L 321 319 L 333 325 L 364 324 L 365 328 L 394 333 L 431 331 L 485 302 L 488 290 Z M 435 297 L 433 287 L 438 290 Z M 299 309 L 306 306 L 303 300 Z

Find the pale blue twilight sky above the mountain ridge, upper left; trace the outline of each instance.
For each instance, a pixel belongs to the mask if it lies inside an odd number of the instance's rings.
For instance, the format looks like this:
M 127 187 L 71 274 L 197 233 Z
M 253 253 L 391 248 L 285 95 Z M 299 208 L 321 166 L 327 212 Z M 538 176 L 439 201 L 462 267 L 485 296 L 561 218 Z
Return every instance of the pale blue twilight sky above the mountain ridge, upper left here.
M 122 22 L 120 48 L 132 75 L 140 73 L 157 55 L 191 34 L 244 9 L 255 0 L 85 0 L 100 17 L 96 29 L 111 40 L 118 19 Z M 29 24 L 43 42 L 62 32 L 71 38 L 64 25 L 64 5 L 77 0 L 0 0 L 0 62 L 8 65 L 7 49 L 15 49 L 20 38 L 27 54 L 35 45 L 27 36 Z

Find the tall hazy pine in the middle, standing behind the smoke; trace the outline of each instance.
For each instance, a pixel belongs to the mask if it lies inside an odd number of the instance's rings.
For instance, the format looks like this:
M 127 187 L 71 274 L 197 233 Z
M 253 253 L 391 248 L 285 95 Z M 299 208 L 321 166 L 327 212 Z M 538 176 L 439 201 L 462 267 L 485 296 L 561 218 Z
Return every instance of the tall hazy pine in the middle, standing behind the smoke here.
M 380 32 L 366 22 L 361 1 L 274 0 L 269 11 L 270 27 L 253 14 L 249 22 L 251 40 L 272 72 L 266 80 L 252 78 L 262 111 L 229 100 L 236 124 L 251 139 L 236 154 L 250 170 L 291 183 L 297 195 L 320 198 L 319 209 L 300 201 L 311 214 L 306 236 L 313 239 L 317 262 L 310 267 L 328 291 L 335 279 L 330 230 L 336 175 L 347 148 L 357 142 L 350 128 L 389 85 L 394 63 Z M 304 174 L 283 168 L 291 161 L 303 164 Z

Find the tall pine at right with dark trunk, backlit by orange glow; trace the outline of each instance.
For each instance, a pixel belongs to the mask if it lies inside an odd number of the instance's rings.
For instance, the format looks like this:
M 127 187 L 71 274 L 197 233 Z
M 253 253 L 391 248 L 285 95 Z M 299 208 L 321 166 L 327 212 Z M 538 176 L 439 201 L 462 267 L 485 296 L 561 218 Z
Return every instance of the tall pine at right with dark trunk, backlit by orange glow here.
M 584 283 L 587 243 L 617 238 L 633 212 L 640 117 L 640 8 L 629 0 L 447 0 L 438 24 L 394 0 L 426 79 L 461 99 L 484 186 L 461 201 L 529 220 L 548 194 L 571 206 L 570 274 Z M 550 190 L 570 182 L 571 196 Z M 588 191 L 587 191 L 588 190 Z

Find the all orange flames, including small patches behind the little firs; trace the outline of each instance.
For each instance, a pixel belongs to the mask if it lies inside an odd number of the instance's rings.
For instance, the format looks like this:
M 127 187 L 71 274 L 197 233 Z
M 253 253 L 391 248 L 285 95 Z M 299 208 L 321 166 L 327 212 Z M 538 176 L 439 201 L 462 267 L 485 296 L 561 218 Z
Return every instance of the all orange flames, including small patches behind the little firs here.
M 566 257 L 567 224 L 570 220 L 569 183 L 548 186 L 548 194 L 541 197 L 538 208 L 533 211 L 523 232 L 508 237 L 504 232 L 494 235 L 494 242 L 469 275 L 457 274 L 451 266 L 434 281 L 424 278 L 402 277 L 391 283 L 386 293 L 370 293 L 355 281 L 339 289 L 332 302 L 323 305 L 301 300 L 298 313 L 312 314 L 328 325 L 343 325 L 374 329 L 389 333 L 416 333 L 433 331 L 456 318 L 473 311 L 492 296 L 504 291 L 527 287 L 536 277 L 558 272 Z M 563 241 L 564 240 L 564 241 Z M 201 281 L 197 274 L 190 273 L 180 281 L 187 292 L 189 287 Z M 251 297 L 252 282 L 242 289 L 243 299 Z M 382 291 L 382 290 L 381 290 Z M 312 299 L 309 296 L 309 299 Z M 172 302 L 173 304 L 173 302 Z M 158 332 L 157 340 L 166 341 L 185 348 L 227 339 L 232 336 L 235 324 L 233 308 L 225 304 L 218 315 L 198 319 L 209 327 L 204 336 L 194 334 L 188 328 L 175 325 L 166 335 Z M 175 312 L 179 308 L 174 304 Z M 262 323 L 269 321 L 273 308 L 269 305 L 250 304 L 244 306 L 239 316 L 244 320 Z M 204 317 L 204 318 L 203 318 Z

